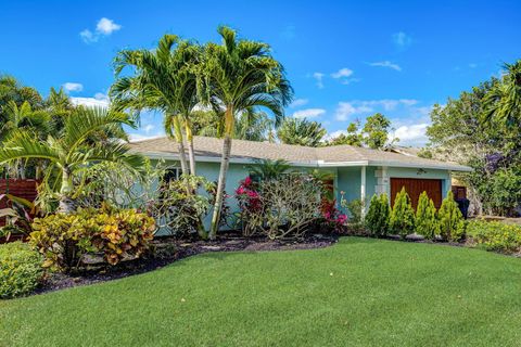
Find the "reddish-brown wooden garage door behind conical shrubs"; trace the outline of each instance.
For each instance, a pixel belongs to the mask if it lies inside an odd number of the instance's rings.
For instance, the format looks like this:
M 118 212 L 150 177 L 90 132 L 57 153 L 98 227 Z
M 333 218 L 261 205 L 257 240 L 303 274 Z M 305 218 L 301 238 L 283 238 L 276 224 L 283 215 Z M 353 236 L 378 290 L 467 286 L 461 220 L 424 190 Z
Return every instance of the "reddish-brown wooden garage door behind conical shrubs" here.
M 442 206 L 442 180 L 428 180 L 417 178 L 391 178 L 391 204 L 394 205 L 396 194 L 405 187 L 410 196 L 412 207 L 418 206 L 418 197 L 427 192 L 436 208 Z

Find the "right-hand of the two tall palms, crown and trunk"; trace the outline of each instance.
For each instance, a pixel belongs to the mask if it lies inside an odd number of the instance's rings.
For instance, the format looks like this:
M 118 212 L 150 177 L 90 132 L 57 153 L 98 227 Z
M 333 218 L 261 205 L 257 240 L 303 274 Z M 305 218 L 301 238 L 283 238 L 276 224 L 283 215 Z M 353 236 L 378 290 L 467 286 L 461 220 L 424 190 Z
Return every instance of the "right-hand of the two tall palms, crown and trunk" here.
M 202 97 L 223 110 L 224 142 L 209 237 L 214 239 L 220 220 L 226 175 L 228 172 L 236 116 L 250 107 L 266 107 L 283 118 L 283 107 L 292 99 L 292 88 L 282 65 L 264 42 L 237 39 L 236 30 L 220 26 L 221 44 L 207 43 L 203 63 L 198 67 Z

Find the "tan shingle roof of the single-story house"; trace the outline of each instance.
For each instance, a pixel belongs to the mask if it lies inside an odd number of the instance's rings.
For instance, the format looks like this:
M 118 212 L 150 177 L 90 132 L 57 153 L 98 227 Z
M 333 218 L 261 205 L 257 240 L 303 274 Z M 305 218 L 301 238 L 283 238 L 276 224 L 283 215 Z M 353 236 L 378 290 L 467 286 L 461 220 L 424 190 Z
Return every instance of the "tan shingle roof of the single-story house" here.
M 177 143 L 166 137 L 135 141 L 129 144 L 132 152 L 150 157 L 177 158 Z M 194 137 L 193 146 L 200 162 L 217 162 L 223 151 L 223 140 L 207 137 Z M 469 171 L 470 168 L 454 163 L 407 156 L 398 153 L 376 151 L 351 145 L 327 147 L 306 147 L 300 145 L 233 140 L 230 162 L 251 162 L 253 159 L 284 159 L 293 165 L 303 166 L 391 166 L 441 168 L 454 171 Z

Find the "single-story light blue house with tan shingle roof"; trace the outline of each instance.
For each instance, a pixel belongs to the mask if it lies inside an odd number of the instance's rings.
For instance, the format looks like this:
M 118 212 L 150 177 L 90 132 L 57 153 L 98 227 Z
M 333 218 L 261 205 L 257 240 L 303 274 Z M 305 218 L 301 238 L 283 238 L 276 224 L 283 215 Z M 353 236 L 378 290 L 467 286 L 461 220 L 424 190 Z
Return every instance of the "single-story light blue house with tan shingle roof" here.
M 130 143 L 132 152 L 151 159 L 164 159 L 179 171 L 177 143 L 166 137 Z M 223 140 L 194 137 L 196 174 L 217 181 Z M 187 153 L 188 155 L 188 153 Z M 385 193 L 391 201 L 405 187 L 416 206 L 418 195 L 427 191 L 436 207 L 450 190 L 452 171 L 471 171 L 454 163 L 376 151 L 351 145 L 306 147 L 270 142 L 233 140 L 226 191 L 231 193 L 247 175 L 247 165 L 258 159 L 284 159 L 292 167 L 304 170 L 319 169 L 334 176 L 336 200 L 344 192 L 347 201 L 360 198 L 368 206 L 373 194 Z M 233 203 L 230 204 L 233 206 Z

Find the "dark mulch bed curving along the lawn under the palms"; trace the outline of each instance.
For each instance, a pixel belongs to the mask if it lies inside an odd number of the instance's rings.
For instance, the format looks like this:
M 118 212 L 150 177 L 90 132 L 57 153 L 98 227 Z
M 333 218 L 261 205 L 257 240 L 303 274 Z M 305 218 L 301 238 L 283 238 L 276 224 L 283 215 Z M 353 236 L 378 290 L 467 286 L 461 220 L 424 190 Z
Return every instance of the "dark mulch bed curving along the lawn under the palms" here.
M 117 266 L 92 265 L 76 273 L 48 273 L 34 294 L 112 281 L 132 274 L 144 273 L 165 267 L 176 260 L 209 252 L 264 252 L 323 248 L 336 243 L 333 235 L 314 234 L 298 241 L 268 241 L 265 237 L 244 239 L 238 235 L 223 235 L 216 241 L 178 241 L 157 237 L 153 241 L 153 256 L 122 261 Z

